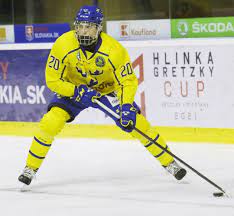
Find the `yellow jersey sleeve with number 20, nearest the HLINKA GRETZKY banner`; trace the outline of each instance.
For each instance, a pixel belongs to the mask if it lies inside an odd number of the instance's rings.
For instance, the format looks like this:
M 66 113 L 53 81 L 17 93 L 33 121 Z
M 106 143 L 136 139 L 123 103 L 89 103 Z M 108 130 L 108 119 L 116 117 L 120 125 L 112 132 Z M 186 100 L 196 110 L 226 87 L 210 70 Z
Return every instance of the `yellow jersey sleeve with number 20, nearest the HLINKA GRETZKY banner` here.
M 116 92 L 120 103 L 132 104 L 137 91 L 138 80 L 127 50 L 122 46 L 115 48 L 110 55 L 109 61 L 113 67 L 115 83 L 118 86 Z

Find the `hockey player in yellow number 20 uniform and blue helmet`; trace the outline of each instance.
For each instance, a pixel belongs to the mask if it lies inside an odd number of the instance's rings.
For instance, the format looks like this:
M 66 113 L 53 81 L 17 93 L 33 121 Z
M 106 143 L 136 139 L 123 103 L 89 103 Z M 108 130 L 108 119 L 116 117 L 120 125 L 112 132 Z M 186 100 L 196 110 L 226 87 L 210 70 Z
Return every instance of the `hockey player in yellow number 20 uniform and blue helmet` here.
M 120 120 L 110 116 L 116 125 L 137 138 L 176 179 L 180 180 L 186 175 L 186 170 L 171 155 L 133 130 L 136 126 L 169 150 L 134 102 L 138 81 L 128 52 L 102 31 L 102 24 L 100 8 L 83 6 L 75 18 L 75 30 L 60 36 L 51 49 L 45 76 L 47 86 L 56 94 L 39 123 L 26 166 L 18 178 L 26 185 L 31 183 L 54 137 L 66 122 L 74 120 L 88 107 L 106 112 L 94 102 L 95 98 L 119 113 Z M 113 99 L 117 99 L 117 103 Z

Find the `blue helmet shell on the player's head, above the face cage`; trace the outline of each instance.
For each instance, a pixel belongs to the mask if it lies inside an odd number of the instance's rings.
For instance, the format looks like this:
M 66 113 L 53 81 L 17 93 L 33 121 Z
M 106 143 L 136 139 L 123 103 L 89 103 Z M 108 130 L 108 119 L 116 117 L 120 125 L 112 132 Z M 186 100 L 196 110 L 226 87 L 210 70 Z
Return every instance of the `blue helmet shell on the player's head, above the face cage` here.
M 103 13 L 102 10 L 96 5 L 85 5 L 78 11 L 75 22 L 91 22 L 97 25 L 102 25 Z

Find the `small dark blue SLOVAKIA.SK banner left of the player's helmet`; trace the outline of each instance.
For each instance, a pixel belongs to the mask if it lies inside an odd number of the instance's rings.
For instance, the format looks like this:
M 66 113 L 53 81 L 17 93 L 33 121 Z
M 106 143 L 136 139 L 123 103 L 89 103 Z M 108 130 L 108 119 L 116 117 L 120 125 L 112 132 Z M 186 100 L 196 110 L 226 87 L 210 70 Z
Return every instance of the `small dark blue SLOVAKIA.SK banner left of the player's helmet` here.
M 69 30 L 68 23 L 15 25 L 15 43 L 54 42 Z

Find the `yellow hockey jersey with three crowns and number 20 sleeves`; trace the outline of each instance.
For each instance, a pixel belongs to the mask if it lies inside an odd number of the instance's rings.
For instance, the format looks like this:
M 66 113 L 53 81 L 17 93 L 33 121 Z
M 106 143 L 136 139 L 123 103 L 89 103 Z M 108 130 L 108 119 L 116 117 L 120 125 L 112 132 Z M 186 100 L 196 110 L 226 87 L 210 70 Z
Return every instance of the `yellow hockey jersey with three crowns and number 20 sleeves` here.
M 85 84 L 102 95 L 115 92 L 120 104 L 133 103 L 138 81 L 127 50 L 101 32 L 94 53 L 84 50 L 69 31 L 54 43 L 46 63 L 46 84 L 53 92 L 72 97 Z

